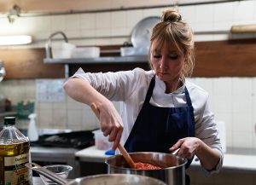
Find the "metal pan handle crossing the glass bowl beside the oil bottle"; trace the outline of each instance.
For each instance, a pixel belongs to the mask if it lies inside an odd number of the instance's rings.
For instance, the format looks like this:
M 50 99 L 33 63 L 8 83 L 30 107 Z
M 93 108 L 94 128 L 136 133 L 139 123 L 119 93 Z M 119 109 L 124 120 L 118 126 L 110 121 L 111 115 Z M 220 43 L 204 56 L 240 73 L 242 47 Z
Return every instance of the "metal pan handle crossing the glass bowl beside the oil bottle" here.
M 58 176 L 54 172 L 49 171 L 43 166 L 40 166 L 36 163 L 26 163 L 26 167 L 31 169 L 32 171 L 37 171 L 39 174 L 49 178 L 50 180 L 52 180 L 53 182 L 56 182 L 57 184 L 64 185 L 64 184 L 67 184 L 67 182 L 69 182 L 67 179 L 62 178 L 61 176 Z

